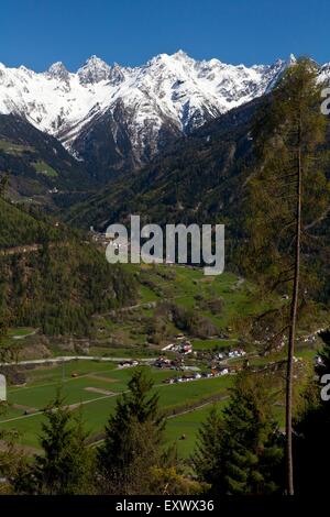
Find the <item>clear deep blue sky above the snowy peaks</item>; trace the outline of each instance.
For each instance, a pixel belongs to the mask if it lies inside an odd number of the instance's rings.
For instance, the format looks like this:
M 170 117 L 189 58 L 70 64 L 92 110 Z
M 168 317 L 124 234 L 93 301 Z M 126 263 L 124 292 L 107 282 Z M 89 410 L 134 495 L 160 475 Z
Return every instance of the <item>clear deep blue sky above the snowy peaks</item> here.
M 330 61 L 329 0 L 1 0 L 0 62 L 72 70 L 92 54 L 138 65 L 179 48 L 195 58 Z

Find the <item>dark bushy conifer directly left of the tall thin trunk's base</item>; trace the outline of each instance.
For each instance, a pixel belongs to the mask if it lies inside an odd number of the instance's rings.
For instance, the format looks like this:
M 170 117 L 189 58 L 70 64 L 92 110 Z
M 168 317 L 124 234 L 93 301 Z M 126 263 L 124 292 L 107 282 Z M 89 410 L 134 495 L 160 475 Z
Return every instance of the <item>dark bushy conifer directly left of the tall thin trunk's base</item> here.
M 213 493 L 261 495 L 279 491 L 283 449 L 272 403 L 264 378 L 243 372 L 235 380 L 221 421 L 211 413 L 199 436 L 196 469 Z

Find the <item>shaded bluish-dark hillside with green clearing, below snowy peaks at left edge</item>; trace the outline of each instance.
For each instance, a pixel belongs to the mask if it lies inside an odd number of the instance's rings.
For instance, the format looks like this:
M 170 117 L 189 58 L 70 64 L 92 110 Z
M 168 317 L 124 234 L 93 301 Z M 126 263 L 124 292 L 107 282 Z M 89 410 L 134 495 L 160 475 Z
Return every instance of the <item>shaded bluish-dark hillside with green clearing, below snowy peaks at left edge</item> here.
M 53 136 L 13 114 L 0 114 L 0 176 L 9 174 L 12 198 L 34 198 L 47 207 L 62 204 L 65 193 L 94 187 L 82 162 Z M 52 191 L 54 190 L 54 194 Z

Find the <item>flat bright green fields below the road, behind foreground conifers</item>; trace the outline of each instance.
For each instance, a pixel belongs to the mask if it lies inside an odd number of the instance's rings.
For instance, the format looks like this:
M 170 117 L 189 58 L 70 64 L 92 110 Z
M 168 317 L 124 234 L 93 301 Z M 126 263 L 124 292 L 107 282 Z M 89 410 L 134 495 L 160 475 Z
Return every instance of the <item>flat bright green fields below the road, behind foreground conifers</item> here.
M 189 421 L 189 413 L 186 411 L 205 405 L 202 410 L 194 410 L 194 433 L 189 432 L 193 439 L 208 406 L 212 400 L 226 397 L 232 376 L 168 385 L 162 381 L 178 375 L 178 372 L 142 367 L 152 376 L 155 383 L 153 391 L 160 394 L 161 406 L 170 416 L 166 431 L 167 440 L 177 441 L 178 450 L 184 454 L 187 443 L 179 438 L 183 433 L 187 433 L 186 422 Z M 81 411 L 86 429 L 90 432 L 90 441 L 98 440 L 101 438 L 109 415 L 116 407 L 118 396 L 128 388 L 133 370 L 119 370 L 113 363 L 97 361 L 73 361 L 64 365 L 31 370 L 26 374 L 26 385 L 9 388 L 9 405 L 0 415 L 0 430 L 16 431 L 22 446 L 37 449 L 44 419 L 42 411 L 61 389 L 65 404 L 73 411 Z M 176 413 L 178 416 L 175 416 Z M 179 419 L 180 413 L 184 414 L 183 420 Z

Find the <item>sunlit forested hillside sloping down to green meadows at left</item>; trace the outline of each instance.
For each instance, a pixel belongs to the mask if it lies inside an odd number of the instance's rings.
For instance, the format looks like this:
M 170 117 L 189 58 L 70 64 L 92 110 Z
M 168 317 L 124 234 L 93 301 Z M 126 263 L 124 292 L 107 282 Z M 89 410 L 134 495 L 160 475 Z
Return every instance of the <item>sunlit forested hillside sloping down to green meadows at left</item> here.
M 0 316 L 8 324 L 86 336 L 92 315 L 134 300 L 131 275 L 82 233 L 3 199 L 0 209 Z

